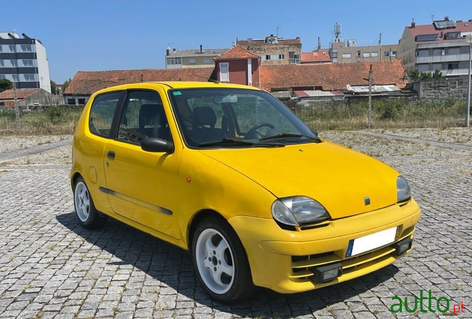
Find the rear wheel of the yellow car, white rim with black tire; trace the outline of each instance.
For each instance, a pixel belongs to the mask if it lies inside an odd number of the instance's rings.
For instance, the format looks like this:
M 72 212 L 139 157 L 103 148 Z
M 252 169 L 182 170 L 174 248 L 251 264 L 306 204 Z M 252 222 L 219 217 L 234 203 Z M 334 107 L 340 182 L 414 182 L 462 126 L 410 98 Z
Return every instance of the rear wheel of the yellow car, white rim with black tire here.
M 87 229 L 101 228 L 108 220 L 108 216 L 96 210 L 89 188 L 81 176 L 74 183 L 74 209 L 79 223 Z

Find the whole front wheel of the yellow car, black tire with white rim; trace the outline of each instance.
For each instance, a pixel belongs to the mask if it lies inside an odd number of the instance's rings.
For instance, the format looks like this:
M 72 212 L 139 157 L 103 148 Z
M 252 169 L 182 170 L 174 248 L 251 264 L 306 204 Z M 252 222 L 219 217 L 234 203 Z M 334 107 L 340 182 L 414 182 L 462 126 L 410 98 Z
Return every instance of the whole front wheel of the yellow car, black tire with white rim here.
M 253 288 L 246 252 L 236 232 L 221 218 L 203 220 L 195 229 L 192 259 L 200 284 L 213 299 L 230 303 Z

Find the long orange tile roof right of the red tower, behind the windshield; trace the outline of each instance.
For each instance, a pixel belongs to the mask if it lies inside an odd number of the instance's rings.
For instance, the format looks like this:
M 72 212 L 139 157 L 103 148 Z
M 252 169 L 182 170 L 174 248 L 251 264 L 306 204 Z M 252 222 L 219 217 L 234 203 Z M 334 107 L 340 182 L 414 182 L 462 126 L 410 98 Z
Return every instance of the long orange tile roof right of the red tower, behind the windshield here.
M 372 64 L 374 85 L 405 88 L 401 61 L 327 64 L 260 65 L 259 87 L 263 90 L 318 87 L 325 91 L 346 90 L 346 85 L 366 85 Z

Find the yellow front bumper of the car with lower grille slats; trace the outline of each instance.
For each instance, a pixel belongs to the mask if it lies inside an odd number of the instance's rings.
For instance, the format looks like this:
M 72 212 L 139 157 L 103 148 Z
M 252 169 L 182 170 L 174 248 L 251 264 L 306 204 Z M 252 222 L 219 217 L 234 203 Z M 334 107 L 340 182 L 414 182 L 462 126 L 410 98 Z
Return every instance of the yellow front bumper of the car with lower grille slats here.
M 420 209 L 411 199 L 377 211 L 350 216 L 322 227 L 301 231 L 280 228 L 273 219 L 235 216 L 235 229 L 248 255 L 254 285 L 294 293 L 341 283 L 383 268 L 403 255 L 392 244 L 346 257 L 349 240 L 397 227 L 395 242 L 412 238 Z M 313 267 L 340 262 L 343 273 L 327 283 L 316 283 Z

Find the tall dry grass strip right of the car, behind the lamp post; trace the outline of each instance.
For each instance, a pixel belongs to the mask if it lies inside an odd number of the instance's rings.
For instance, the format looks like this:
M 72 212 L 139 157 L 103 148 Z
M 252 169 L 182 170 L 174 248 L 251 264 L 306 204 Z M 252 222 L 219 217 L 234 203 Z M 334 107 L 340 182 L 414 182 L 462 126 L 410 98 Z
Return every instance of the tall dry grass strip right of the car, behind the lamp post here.
M 350 105 L 335 103 L 332 107 L 294 107 L 295 114 L 311 128 L 318 130 L 367 128 L 368 102 Z M 388 99 L 372 101 L 372 128 L 449 128 L 462 127 L 466 102 L 460 99 L 445 101 L 414 101 Z

